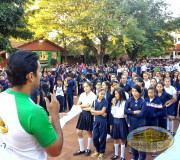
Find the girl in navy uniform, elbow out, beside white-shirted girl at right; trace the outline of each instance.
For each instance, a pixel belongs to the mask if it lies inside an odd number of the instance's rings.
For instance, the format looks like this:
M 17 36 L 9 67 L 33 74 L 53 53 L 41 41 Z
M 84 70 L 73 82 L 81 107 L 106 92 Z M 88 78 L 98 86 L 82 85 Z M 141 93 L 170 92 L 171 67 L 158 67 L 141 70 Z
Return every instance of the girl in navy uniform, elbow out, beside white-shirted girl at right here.
M 167 108 L 173 103 L 173 96 L 165 91 L 163 82 L 157 83 L 156 90 L 163 106 L 163 113 L 158 117 L 158 127 L 167 129 Z

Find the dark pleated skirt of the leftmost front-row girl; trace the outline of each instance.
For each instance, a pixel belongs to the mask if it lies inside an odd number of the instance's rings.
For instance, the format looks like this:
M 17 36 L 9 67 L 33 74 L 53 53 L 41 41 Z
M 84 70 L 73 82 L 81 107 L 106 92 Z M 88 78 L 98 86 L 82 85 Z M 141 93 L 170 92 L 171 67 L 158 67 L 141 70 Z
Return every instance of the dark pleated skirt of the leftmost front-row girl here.
M 93 130 L 93 116 L 89 111 L 82 111 L 79 115 L 76 128 L 79 130 L 92 131 Z

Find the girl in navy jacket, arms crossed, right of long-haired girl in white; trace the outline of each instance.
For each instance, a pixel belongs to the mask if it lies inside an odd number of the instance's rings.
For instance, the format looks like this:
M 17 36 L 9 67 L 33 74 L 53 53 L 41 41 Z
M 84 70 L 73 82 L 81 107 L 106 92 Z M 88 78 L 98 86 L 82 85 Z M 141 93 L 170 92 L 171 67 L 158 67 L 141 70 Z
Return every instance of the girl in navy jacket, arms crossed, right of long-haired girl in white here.
M 144 112 L 146 102 L 141 98 L 141 87 L 137 84 L 132 86 L 132 97 L 126 101 L 124 113 L 128 116 L 130 132 L 146 125 Z M 138 160 L 139 152 L 132 148 L 133 160 Z M 145 160 L 146 153 L 140 152 L 140 159 Z

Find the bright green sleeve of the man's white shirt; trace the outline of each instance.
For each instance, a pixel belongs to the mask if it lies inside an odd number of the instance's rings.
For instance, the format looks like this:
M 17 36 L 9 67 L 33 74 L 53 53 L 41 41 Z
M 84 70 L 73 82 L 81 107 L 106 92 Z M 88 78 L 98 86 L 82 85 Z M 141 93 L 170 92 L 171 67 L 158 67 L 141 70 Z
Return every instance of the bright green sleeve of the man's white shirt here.
M 41 147 L 48 147 L 57 140 L 58 136 L 43 107 L 19 98 L 16 98 L 16 105 L 21 126 L 36 138 Z

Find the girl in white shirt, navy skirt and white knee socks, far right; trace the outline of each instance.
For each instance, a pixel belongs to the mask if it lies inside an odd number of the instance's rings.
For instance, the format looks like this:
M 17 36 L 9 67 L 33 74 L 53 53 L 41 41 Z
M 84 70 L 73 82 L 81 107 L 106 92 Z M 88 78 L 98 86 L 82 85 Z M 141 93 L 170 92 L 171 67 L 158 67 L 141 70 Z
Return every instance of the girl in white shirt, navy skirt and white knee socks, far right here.
M 173 96 L 174 99 L 174 103 L 171 104 L 168 108 L 167 108 L 167 114 L 168 114 L 168 119 L 167 119 L 167 130 L 170 130 L 170 132 L 174 135 L 174 121 L 173 121 L 173 116 L 175 115 L 175 101 L 176 101 L 176 94 L 177 91 L 176 89 L 171 86 L 171 80 L 170 78 L 165 78 L 164 79 L 164 83 L 165 83 L 165 91 L 167 93 L 169 93 L 170 95 Z

